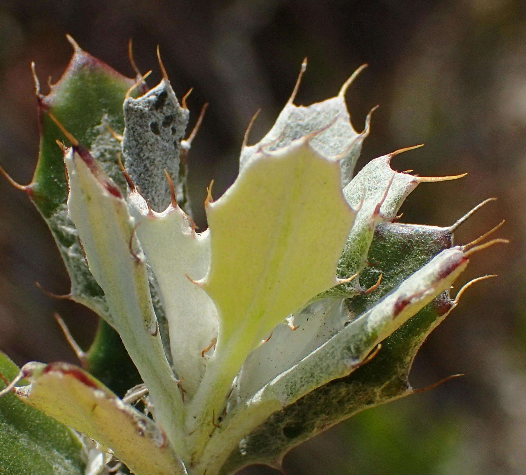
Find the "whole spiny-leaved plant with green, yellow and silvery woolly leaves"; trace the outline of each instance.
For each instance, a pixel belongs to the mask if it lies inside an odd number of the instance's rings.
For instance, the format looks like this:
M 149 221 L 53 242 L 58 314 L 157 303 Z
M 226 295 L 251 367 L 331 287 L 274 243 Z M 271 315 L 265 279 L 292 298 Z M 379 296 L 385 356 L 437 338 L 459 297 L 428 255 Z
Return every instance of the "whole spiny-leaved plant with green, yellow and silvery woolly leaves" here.
M 86 352 L 59 320 L 82 367 L 18 370 L 1 356 L 2 473 L 279 467 L 314 434 L 414 392 L 413 358 L 462 294 L 451 299 L 451 285 L 473 252 L 504 240 L 480 244 L 492 230 L 453 246 L 489 200 L 449 227 L 396 222 L 417 185 L 463 176 L 391 169 L 415 147 L 353 177 L 371 114 L 355 132 L 344 96 L 362 68 L 304 107 L 294 104 L 304 62 L 268 134 L 249 146 L 247 130 L 234 184 L 215 201 L 208 189 L 209 228 L 197 233 L 186 96 L 178 102 L 160 57 L 163 79 L 148 90 L 136 67 L 126 78 L 69 40 L 73 58 L 47 96 L 34 74 L 33 181 L 8 179 L 56 240 L 67 298 L 101 320 Z

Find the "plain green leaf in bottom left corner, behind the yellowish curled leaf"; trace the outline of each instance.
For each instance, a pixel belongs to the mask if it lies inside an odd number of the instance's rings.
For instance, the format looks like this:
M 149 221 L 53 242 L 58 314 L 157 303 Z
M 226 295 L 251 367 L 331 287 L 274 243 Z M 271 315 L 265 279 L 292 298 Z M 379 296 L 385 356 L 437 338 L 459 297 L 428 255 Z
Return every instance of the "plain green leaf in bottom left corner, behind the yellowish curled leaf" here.
M 0 352 L 0 373 L 12 380 L 19 369 Z M 5 383 L 0 380 L 0 389 Z M 84 475 L 82 444 L 67 427 L 27 406 L 12 393 L 0 398 L 0 473 Z

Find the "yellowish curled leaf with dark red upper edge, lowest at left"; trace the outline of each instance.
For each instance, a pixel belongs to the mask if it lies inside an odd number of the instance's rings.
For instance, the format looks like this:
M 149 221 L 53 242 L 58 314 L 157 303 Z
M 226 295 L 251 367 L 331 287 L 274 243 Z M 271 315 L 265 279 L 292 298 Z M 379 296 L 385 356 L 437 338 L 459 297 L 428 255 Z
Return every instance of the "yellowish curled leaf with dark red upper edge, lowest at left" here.
M 19 399 L 112 449 L 133 473 L 185 473 L 163 430 L 82 369 L 52 363 L 28 378 Z

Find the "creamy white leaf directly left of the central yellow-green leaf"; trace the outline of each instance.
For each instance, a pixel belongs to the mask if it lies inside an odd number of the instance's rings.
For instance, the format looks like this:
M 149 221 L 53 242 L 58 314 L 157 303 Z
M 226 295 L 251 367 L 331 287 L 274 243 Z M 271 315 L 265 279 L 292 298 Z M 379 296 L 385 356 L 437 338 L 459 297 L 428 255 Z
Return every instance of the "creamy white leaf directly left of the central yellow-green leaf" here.
M 185 399 L 190 400 L 205 373 L 208 356 L 203 350 L 217 337 L 219 325 L 214 302 L 188 279 L 206 275 L 210 263 L 209 231 L 197 234 L 177 202 L 156 213 L 134 190 L 128 203 L 136 219 L 137 237 L 163 299 L 173 366 L 183 380 Z

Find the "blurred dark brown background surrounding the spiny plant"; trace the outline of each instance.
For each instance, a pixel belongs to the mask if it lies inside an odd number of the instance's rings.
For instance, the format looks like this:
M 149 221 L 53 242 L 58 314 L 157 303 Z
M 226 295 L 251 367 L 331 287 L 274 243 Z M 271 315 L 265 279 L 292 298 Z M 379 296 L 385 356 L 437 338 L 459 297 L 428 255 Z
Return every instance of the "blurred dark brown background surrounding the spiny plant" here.
M 417 358 L 412 383 L 466 377 L 369 410 L 292 451 L 290 475 L 326 473 L 526 473 L 526 312 L 523 286 L 526 181 L 526 2 L 520 0 L 2 0 L 0 2 L 0 163 L 29 183 L 38 130 L 29 63 L 55 82 L 72 50 L 85 50 L 131 76 L 134 39 L 143 71 L 160 78 L 155 47 L 196 119 L 210 102 L 190 157 L 194 204 L 216 179 L 219 194 L 237 173 L 242 135 L 262 107 L 252 141 L 285 104 L 302 58 L 309 66 L 297 103 L 338 92 L 362 63 L 348 105 L 361 130 L 373 116 L 359 167 L 397 148 L 425 143 L 393 166 L 459 181 L 423 184 L 402 221 L 446 226 L 483 199 L 499 200 L 457 233 L 467 242 L 497 224 L 507 247 L 474 256 L 464 281 L 500 277 L 467 292 Z M 46 92 L 46 86 L 43 87 Z M 190 124 L 191 125 L 191 124 Z M 196 207 L 198 224 L 203 214 Z M 71 302 L 68 278 L 44 221 L 25 194 L 0 181 L 0 348 L 28 360 L 75 361 L 52 314 L 87 347 L 95 318 Z M 266 468 L 246 473 L 274 473 Z

